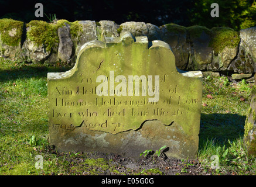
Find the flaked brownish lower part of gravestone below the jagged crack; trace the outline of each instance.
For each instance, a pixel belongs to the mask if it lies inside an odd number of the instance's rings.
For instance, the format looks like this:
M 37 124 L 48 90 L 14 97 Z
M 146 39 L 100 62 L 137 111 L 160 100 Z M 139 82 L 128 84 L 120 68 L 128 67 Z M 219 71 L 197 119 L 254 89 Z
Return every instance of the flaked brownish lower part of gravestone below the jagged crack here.
M 88 130 L 83 125 L 73 130 L 52 129 L 61 136 L 53 136 L 57 151 L 98 151 L 115 153 L 124 157 L 138 158 L 145 150 L 156 152 L 166 146 L 165 155 L 172 158 L 195 159 L 197 157 L 198 138 L 183 133 L 176 124 L 162 124 L 158 120 L 148 120 L 138 130 L 124 131 L 118 134 Z

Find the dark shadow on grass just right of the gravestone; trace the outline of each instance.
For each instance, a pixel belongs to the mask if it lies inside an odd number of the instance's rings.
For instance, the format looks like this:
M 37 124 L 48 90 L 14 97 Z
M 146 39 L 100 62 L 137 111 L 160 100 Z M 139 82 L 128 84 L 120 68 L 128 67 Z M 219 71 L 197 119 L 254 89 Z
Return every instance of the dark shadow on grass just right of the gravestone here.
M 208 140 L 226 144 L 228 140 L 243 137 L 246 116 L 237 114 L 201 114 L 199 147 Z

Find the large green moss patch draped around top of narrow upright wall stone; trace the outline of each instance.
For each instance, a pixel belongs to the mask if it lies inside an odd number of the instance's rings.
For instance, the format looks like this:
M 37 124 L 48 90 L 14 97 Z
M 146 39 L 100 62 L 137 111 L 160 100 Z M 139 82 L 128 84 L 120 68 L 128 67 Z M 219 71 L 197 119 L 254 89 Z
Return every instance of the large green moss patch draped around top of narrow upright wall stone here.
M 72 37 L 77 37 L 78 33 L 82 32 L 82 26 L 78 21 L 69 22 L 61 19 L 57 23 L 47 23 L 42 20 L 32 20 L 26 25 L 26 27 L 30 27 L 27 37 L 29 40 L 34 41 L 37 46 L 44 45 L 46 51 L 50 51 L 52 47 L 57 47 L 59 44 L 57 30 L 59 27 L 63 27 L 64 23 L 70 25 Z

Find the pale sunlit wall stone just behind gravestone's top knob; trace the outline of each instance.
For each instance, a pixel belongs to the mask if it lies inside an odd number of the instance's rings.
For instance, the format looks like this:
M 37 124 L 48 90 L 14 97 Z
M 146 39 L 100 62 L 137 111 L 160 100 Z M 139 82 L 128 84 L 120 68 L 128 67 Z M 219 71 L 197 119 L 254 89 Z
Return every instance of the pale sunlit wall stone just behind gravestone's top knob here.
M 131 32 L 135 36 L 148 36 L 148 27 L 144 22 L 125 22 L 120 25 L 120 32 Z

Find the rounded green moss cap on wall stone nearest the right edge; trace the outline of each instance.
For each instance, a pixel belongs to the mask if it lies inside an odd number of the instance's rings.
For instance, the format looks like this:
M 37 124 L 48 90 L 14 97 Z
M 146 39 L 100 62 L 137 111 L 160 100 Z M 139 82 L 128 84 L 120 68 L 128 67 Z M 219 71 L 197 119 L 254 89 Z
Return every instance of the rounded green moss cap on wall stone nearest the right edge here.
M 220 53 L 224 47 L 234 48 L 239 45 L 240 36 L 235 30 L 228 27 L 213 27 L 210 47 L 213 47 L 214 54 Z

